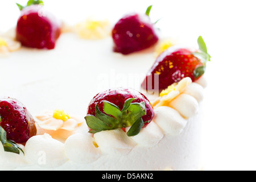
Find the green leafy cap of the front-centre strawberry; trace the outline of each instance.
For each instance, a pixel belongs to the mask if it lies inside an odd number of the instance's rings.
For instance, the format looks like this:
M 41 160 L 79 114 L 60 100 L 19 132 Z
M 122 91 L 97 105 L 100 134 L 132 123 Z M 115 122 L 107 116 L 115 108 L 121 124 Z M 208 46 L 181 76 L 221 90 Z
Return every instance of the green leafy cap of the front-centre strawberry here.
M 104 102 L 104 113 L 102 113 L 96 105 L 95 116 L 86 115 L 85 117 L 86 123 L 90 128 L 89 133 L 132 126 L 131 131 L 127 135 L 134 136 L 138 134 L 138 132 L 141 131 L 141 127 L 144 125 L 141 117 L 146 115 L 146 106 L 145 102 L 131 103 L 134 100 L 136 100 L 136 98 L 128 98 L 125 104 L 123 104 L 122 111 L 118 106 L 109 101 L 102 101 Z M 141 119 L 142 123 L 138 121 L 138 119 Z

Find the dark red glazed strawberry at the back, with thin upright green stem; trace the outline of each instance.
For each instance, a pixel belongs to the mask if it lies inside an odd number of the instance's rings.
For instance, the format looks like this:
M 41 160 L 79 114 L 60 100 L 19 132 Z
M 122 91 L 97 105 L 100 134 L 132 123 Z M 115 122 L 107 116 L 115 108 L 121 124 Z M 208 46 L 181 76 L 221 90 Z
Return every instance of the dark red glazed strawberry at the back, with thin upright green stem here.
M 127 55 L 151 47 L 158 42 L 158 35 L 149 18 L 150 9 L 146 14 L 129 14 L 121 18 L 112 30 L 114 52 Z

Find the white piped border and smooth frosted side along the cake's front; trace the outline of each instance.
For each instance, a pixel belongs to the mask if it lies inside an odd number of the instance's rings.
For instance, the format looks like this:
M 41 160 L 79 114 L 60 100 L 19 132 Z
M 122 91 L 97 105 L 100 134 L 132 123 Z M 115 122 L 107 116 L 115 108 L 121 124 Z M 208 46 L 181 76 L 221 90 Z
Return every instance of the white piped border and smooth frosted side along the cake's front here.
M 199 84 L 191 84 L 187 78 L 181 80 L 183 86 L 176 90 L 180 93 L 167 106 L 156 107 L 151 123 L 135 137 L 122 129 L 94 135 L 79 130 L 65 142 L 47 133 L 36 135 L 22 146 L 25 155 L 4 152 L 0 146 L 1 169 L 198 170 L 202 113 L 195 97 L 203 93 Z

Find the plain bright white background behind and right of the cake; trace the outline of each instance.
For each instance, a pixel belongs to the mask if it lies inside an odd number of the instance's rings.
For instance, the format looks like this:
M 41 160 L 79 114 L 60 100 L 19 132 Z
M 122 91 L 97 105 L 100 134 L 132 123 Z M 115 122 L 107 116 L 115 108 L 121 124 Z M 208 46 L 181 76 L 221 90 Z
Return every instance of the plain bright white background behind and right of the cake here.
M 0 0 L 0 32 L 14 27 L 18 2 Z M 79 1 L 44 0 L 49 11 L 69 24 L 96 15 L 115 22 L 129 11 L 143 13 L 173 38 L 195 42 L 202 35 L 208 63 L 203 128 L 205 170 L 255 170 L 256 28 L 255 1 Z M 3 75 L 1 75 L 3 76 Z

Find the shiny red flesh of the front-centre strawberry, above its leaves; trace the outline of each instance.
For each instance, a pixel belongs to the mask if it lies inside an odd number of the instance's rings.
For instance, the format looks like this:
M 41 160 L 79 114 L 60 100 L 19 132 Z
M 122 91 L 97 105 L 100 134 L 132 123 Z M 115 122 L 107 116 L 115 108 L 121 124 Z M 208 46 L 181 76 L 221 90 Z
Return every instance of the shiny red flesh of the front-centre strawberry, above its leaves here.
M 128 89 L 128 88 L 118 88 L 118 89 L 110 89 L 106 90 L 105 92 L 98 93 L 93 100 L 90 102 L 88 106 L 88 114 L 95 115 L 96 114 L 96 105 L 100 109 L 102 113 L 104 113 L 104 102 L 102 101 L 109 101 L 112 102 L 114 105 L 117 105 L 120 110 L 123 109 L 123 104 L 128 98 L 137 98 L 133 102 L 145 102 L 146 106 L 146 115 L 142 117 L 143 121 L 148 123 L 154 117 L 154 110 L 152 109 L 152 105 L 150 101 L 144 96 L 142 93 L 138 92 L 137 90 Z M 132 102 L 132 103 L 133 103 Z M 148 123 L 145 123 L 146 126 Z

